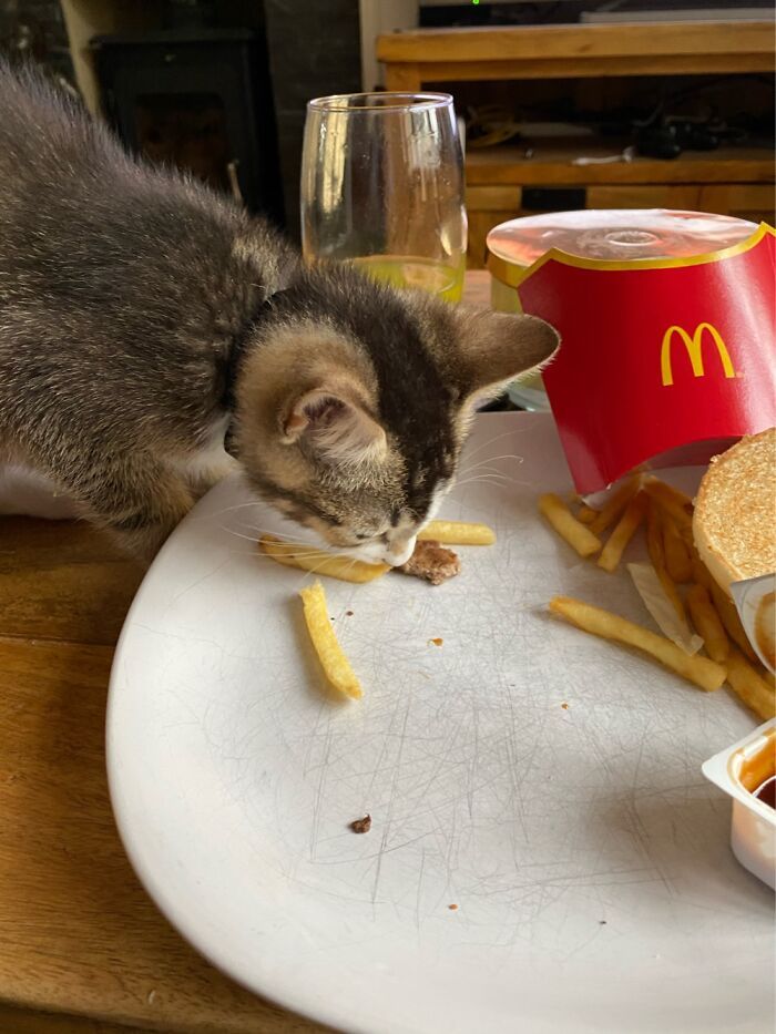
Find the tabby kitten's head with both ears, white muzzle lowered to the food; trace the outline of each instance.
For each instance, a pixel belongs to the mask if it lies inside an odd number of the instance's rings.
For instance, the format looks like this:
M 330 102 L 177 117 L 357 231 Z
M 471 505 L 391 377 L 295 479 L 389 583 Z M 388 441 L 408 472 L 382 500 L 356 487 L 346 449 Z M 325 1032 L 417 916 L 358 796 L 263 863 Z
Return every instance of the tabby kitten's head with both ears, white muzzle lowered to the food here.
M 361 560 L 404 563 L 452 485 L 478 402 L 545 364 L 531 316 L 308 270 L 265 309 L 236 383 L 234 451 L 259 494 Z

